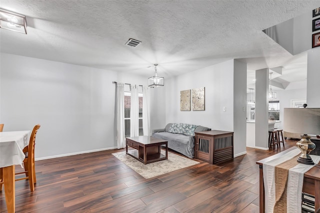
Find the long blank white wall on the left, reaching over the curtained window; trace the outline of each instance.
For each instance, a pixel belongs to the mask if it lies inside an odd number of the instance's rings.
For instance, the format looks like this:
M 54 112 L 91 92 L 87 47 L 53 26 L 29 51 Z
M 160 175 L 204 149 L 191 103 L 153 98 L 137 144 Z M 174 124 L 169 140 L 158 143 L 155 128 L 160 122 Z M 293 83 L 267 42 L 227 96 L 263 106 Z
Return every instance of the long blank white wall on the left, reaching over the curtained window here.
M 36 158 L 116 147 L 112 81 L 147 83 L 145 77 L 6 53 L 0 61 L 0 123 L 4 131 L 39 123 Z

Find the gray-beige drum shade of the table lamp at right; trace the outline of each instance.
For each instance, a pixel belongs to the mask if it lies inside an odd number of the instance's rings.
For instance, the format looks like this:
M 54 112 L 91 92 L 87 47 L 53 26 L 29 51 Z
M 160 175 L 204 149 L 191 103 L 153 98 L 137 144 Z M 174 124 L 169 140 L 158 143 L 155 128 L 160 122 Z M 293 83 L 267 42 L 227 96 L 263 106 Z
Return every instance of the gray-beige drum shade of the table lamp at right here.
M 320 134 L 320 108 L 284 108 L 283 130 L 298 134 Z

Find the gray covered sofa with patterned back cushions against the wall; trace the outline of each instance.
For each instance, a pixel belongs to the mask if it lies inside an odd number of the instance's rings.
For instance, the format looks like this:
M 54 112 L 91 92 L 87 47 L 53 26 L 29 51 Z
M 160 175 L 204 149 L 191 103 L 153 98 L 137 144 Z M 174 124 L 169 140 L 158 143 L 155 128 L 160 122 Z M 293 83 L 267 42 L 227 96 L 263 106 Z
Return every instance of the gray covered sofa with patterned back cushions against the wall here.
M 208 131 L 211 128 L 186 123 L 168 123 L 165 128 L 153 129 L 152 137 L 168 141 L 168 148 L 187 157 L 194 157 L 194 132 Z

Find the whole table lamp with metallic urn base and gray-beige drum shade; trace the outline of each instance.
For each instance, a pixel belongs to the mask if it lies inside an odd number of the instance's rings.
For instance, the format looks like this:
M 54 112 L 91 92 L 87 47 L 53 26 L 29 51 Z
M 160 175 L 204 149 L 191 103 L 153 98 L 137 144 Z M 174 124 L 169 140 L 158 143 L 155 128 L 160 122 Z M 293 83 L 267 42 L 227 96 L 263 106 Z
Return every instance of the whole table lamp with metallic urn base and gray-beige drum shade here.
M 297 161 L 313 165 L 309 153 L 315 148 L 308 134 L 320 134 L 320 108 L 284 108 L 283 130 L 301 134 L 296 146 L 301 150 Z M 320 148 L 320 147 L 318 147 Z

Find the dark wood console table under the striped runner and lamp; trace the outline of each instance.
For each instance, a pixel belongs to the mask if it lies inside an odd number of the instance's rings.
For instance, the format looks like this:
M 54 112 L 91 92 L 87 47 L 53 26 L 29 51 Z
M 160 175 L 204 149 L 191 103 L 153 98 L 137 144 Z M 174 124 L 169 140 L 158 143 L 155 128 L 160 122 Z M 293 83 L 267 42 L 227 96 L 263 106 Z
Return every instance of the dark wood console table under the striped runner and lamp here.
M 282 156 L 286 152 L 293 150 L 295 147 L 291 147 L 280 153 L 274 154 L 267 158 L 257 161 L 256 163 L 259 165 L 259 205 L 260 205 L 260 213 L 265 212 L 265 203 L 264 203 L 264 184 L 263 184 L 263 163 Z M 319 164 L 320 165 L 320 164 Z M 302 191 L 315 196 L 315 212 L 320 212 L 320 168 L 313 166 L 310 170 L 304 173 L 303 178 L 303 188 Z

